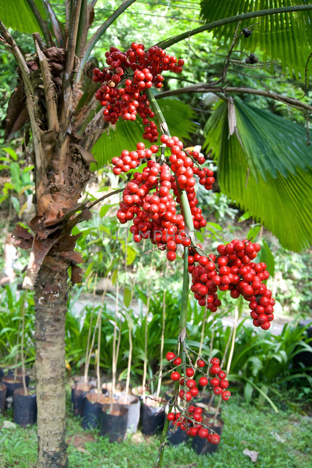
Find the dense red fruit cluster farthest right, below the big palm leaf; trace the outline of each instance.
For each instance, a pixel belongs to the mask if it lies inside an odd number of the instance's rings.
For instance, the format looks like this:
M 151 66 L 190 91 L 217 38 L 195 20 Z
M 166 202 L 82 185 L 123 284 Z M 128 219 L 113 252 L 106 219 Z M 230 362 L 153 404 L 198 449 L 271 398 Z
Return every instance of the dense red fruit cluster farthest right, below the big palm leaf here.
M 207 257 L 190 248 L 188 262 L 194 298 L 201 306 L 216 312 L 217 307 L 221 306 L 216 293 L 218 288 L 220 291 L 229 290 L 235 299 L 242 295 L 250 303 L 253 325 L 269 329 L 274 319 L 275 300 L 262 282 L 269 277 L 266 263 L 252 261 L 259 251 L 258 243 L 246 239 L 234 239 L 227 245 L 220 244 L 217 247 L 218 256 L 210 254 Z

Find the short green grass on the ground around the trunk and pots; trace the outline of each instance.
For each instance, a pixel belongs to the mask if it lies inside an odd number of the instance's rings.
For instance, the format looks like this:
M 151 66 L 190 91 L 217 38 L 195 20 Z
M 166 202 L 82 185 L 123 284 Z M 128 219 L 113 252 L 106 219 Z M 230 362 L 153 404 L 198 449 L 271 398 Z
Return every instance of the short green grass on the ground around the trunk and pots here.
M 169 447 L 163 467 L 310 468 L 312 418 L 287 407 L 276 415 L 269 407 L 259 409 L 234 396 L 223 405 L 225 424 L 218 452 L 197 455 L 190 443 Z M 11 412 L 7 412 L 6 419 L 12 419 Z M 138 432 L 122 444 L 110 444 L 99 431 L 83 431 L 80 421 L 70 416 L 69 406 L 67 437 L 70 468 L 152 468 L 159 441 L 156 436 L 144 438 Z M 256 463 L 243 454 L 245 448 L 259 452 Z M 0 468 L 36 468 L 36 459 L 36 426 L 0 428 Z

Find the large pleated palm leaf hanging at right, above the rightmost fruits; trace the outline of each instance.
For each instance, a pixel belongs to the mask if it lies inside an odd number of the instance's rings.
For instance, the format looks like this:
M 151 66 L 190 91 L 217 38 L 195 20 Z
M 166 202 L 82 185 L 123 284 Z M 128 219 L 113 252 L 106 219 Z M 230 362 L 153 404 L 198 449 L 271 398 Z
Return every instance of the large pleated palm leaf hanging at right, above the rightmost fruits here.
M 235 134 L 229 138 L 226 103 L 205 127 L 205 145 L 213 147 L 218 159 L 221 190 L 272 231 L 283 247 L 308 248 L 312 151 L 305 129 L 243 102 L 235 101 L 235 110 L 240 141 Z

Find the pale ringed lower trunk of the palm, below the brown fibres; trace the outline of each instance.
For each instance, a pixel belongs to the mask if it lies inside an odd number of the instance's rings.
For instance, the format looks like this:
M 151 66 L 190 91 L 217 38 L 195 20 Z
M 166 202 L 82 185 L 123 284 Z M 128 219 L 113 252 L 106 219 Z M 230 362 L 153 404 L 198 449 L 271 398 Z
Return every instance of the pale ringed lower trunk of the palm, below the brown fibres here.
M 67 468 L 65 315 L 68 263 L 46 257 L 35 285 L 38 468 Z

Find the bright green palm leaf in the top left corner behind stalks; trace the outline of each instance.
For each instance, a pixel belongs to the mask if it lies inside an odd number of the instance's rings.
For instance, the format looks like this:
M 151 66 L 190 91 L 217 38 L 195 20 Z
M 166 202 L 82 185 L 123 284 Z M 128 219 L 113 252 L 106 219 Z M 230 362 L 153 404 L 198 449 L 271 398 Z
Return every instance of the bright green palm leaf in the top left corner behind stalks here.
M 45 20 L 46 13 L 43 0 L 34 1 L 42 19 Z M 14 5 L 12 0 L 0 1 L 0 18 L 5 26 L 19 32 L 41 32 L 27 0 L 18 0 L 17 3 L 18 5 Z

